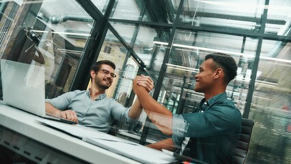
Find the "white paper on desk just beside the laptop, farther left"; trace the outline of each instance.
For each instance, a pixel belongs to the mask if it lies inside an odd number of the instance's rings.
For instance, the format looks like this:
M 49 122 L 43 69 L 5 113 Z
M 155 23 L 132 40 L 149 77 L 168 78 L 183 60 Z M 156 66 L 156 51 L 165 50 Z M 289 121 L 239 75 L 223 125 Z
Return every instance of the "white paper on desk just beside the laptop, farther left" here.
M 96 131 L 92 128 L 87 128 L 85 126 L 79 124 L 66 124 L 63 122 L 56 122 L 53 120 L 43 120 L 41 122 L 47 126 L 51 126 L 52 128 L 57 128 L 59 131 L 64 131 L 69 133 L 70 135 L 74 135 L 79 138 L 83 137 L 98 137 L 99 139 L 110 139 L 113 141 L 120 141 L 121 139 L 114 137 L 112 135 L 108 135 L 107 133 L 102 133 L 100 131 Z

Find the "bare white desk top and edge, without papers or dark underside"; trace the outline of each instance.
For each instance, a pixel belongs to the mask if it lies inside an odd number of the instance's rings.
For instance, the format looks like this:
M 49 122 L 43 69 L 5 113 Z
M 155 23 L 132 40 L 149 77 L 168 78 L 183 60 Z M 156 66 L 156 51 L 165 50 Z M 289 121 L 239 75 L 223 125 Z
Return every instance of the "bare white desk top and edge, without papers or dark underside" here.
M 72 137 L 61 131 L 39 124 L 44 120 L 36 115 L 15 109 L 0 102 L 0 124 L 21 135 L 51 146 L 61 152 L 76 156 L 88 163 L 106 161 L 106 163 L 139 163 L 125 156 L 115 154 L 98 146 Z M 102 160 L 102 161 L 100 161 Z

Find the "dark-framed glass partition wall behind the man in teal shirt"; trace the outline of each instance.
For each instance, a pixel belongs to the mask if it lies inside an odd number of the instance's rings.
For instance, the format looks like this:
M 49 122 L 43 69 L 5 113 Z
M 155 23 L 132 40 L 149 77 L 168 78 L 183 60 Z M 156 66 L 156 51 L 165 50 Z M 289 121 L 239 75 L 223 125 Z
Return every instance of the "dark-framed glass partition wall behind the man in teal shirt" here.
M 290 161 L 290 1 L 124 0 L 115 6 L 111 25 L 156 82 L 158 102 L 172 113 L 195 111 L 204 95 L 193 91 L 194 76 L 204 56 L 232 55 L 238 76 L 227 97 L 255 120 L 247 163 Z M 139 143 L 168 137 L 143 122 Z

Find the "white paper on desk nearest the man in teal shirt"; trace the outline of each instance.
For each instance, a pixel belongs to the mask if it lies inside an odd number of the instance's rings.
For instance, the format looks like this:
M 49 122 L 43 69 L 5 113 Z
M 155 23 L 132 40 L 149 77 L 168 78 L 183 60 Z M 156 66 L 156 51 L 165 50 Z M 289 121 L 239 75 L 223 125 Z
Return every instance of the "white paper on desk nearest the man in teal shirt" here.
M 111 141 L 109 139 L 99 139 L 96 137 L 84 137 L 82 140 L 141 163 L 176 162 L 173 156 L 165 154 L 165 152 L 154 150 L 131 141 Z

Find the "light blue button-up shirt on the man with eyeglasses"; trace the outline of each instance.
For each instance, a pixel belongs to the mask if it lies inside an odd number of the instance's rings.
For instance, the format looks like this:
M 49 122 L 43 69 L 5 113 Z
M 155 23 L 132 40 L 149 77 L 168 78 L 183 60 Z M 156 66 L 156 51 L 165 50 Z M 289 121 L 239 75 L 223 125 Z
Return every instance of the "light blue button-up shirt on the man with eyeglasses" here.
M 46 99 L 55 108 L 64 111 L 71 109 L 78 116 L 79 124 L 95 128 L 98 131 L 108 133 L 113 120 L 125 124 L 133 123 L 137 119 L 129 117 L 130 108 L 126 108 L 106 94 L 100 94 L 95 100 L 91 100 L 89 90 L 75 90 L 67 92 L 53 99 Z

